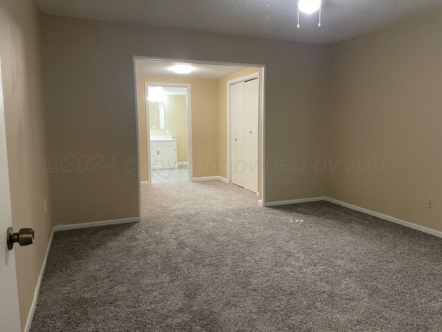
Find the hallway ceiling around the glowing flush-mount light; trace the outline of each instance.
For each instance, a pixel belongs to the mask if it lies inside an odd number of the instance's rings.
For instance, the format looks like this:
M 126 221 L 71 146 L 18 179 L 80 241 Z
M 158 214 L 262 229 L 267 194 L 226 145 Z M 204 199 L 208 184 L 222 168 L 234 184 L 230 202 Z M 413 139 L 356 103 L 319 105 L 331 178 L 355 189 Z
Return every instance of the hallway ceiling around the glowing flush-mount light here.
M 159 60 L 135 60 L 135 73 L 144 76 L 166 76 L 166 77 L 190 77 L 190 78 L 206 78 L 209 80 L 218 80 L 221 77 L 236 73 L 244 67 L 240 66 L 223 66 L 216 64 L 190 64 L 195 71 L 189 74 L 179 75 L 173 73 L 169 68 L 175 64 L 184 64 L 183 62 L 169 62 Z

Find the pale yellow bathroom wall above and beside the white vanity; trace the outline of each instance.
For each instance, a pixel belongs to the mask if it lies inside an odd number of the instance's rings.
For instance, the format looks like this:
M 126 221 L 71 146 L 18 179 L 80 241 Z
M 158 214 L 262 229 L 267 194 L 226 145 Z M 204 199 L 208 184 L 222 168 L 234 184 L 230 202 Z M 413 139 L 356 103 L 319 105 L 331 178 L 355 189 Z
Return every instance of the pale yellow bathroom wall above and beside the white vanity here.
M 151 135 L 172 135 L 177 140 L 177 162 L 187 161 L 187 103 L 185 95 L 166 95 L 164 100 L 165 129 L 158 129 L 160 123 L 158 102 L 148 102 Z M 156 123 L 155 129 L 152 124 Z M 140 128 L 140 126 L 138 126 Z M 167 133 L 169 129 L 169 134 Z

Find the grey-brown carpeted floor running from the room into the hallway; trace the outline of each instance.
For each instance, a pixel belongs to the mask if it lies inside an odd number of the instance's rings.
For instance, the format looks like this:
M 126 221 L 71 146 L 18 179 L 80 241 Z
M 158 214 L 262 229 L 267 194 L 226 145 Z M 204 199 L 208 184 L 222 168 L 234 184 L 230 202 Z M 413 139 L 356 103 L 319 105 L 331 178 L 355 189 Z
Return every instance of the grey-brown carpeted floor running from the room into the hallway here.
M 442 331 L 442 239 L 216 181 L 142 198 L 141 223 L 55 233 L 30 331 Z

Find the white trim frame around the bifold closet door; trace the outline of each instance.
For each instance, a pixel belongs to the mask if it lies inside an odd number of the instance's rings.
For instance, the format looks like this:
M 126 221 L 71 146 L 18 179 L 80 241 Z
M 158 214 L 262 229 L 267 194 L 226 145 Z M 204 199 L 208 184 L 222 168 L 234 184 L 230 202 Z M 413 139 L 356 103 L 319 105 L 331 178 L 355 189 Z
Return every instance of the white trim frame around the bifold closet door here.
M 237 77 L 237 78 L 233 78 L 232 80 L 228 80 L 227 81 L 227 181 L 229 181 L 229 183 L 232 183 L 232 171 L 231 171 L 231 107 L 230 107 L 230 86 L 236 83 L 240 83 L 240 82 L 244 82 L 247 80 L 253 80 L 253 78 L 258 78 L 258 82 L 260 83 L 260 68 L 257 68 L 258 71 L 256 71 L 256 73 L 251 73 L 249 75 L 244 75 L 241 77 Z M 264 76 L 264 70 L 265 68 L 262 68 L 262 76 Z M 260 131 L 260 144 L 261 144 L 261 194 L 262 194 L 262 199 L 260 204 L 263 204 L 263 202 L 265 202 L 264 200 L 264 171 L 265 171 L 265 145 L 264 145 L 264 135 L 265 135 L 265 117 L 264 117 L 264 93 L 265 89 L 264 89 L 264 77 L 262 77 L 262 86 L 260 84 L 260 91 L 259 91 L 259 95 L 260 95 L 260 100 L 259 100 L 259 117 L 258 119 L 261 119 L 261 127 L 258 129 Z M 258 160 L 259 160 L 259 155 L 258 155 Z M 259 174 L 259 170 L 258 170 L 258 174 Z M 259 187 L 258 187 L 259 190 Z M 257 193 L 257 196 L 259 196 L 259 192 Z

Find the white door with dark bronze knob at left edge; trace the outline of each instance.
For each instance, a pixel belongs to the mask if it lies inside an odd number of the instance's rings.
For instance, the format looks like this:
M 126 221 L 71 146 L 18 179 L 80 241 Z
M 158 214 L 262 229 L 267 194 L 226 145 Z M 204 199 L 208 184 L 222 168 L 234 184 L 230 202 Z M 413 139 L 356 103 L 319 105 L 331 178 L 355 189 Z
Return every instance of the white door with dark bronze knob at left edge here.
M 19 332 L 20 315 L 15 275 L 14 250 L 6 246 L 6 232 L 12 225 L 9 192 L 8 156 L 6 155 L 5 110 L 0 62 L 0 326 L 1 331 Z

